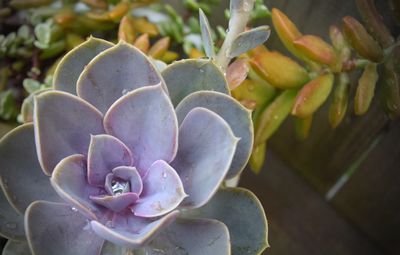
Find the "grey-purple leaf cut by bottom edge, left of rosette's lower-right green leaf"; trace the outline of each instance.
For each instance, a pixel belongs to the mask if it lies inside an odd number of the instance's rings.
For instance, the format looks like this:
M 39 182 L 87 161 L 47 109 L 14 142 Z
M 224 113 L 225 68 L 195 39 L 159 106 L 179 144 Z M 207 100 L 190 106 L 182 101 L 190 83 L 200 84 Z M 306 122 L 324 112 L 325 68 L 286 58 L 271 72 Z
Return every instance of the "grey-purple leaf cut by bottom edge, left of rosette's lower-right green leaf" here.
M 178 219 L 149 244 L 148 255 L 230 255 L 229 230 L 211 219 Z

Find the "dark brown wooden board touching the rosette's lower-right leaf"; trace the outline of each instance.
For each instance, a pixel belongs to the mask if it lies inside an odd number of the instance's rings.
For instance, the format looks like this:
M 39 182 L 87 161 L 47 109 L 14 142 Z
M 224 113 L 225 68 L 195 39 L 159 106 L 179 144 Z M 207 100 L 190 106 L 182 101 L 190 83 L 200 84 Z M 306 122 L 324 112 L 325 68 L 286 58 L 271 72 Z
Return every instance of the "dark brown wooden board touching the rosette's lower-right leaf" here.
M 266 255 L 384 254 L 273 152 L 260 175 L 245 171 L 240 186 L 264 205 L 271 245 Z

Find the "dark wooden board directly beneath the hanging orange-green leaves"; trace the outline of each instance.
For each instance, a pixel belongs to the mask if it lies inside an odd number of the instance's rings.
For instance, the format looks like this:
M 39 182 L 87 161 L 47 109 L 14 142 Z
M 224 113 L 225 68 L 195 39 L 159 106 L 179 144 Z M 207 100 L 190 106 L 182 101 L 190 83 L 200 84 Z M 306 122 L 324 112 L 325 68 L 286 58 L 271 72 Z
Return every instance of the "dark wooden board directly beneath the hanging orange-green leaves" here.
M 335 184 L 388 123 L 379 100 L 374 100 L 362 117 L 354 116 L 351 101 L 344 123 L 333 130 L 328 124 L 329 103 L 315 114 L 311 135 L 305 141 L 295 138 L 293 118 L 289 118 L 269 143 L 321 194 Z

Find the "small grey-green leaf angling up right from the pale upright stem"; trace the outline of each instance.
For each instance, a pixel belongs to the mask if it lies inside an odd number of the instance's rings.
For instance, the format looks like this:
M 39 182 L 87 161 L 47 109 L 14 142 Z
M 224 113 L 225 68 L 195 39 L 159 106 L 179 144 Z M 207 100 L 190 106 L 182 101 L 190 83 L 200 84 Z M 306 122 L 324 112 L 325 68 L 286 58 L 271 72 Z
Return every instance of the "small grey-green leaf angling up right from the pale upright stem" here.
M 271 29 L 269 26 L 260 26 L 240 33 L 232 43 L 232 47 L 229 51 L 230 57 L 237 57 L 258 45 L 263 44 L 268 40 L 270 34 Z

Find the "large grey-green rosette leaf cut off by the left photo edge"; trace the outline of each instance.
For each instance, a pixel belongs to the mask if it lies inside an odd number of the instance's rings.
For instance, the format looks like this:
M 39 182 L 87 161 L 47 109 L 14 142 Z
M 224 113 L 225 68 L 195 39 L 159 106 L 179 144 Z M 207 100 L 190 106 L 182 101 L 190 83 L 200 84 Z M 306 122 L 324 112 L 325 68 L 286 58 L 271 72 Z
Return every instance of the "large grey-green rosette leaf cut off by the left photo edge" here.
M 0 179 L 11 205 L 21 214 L 36 200 L 61 201 L 39 165 L 33 124 L 24 124 L 0 141 Z

